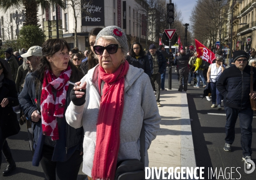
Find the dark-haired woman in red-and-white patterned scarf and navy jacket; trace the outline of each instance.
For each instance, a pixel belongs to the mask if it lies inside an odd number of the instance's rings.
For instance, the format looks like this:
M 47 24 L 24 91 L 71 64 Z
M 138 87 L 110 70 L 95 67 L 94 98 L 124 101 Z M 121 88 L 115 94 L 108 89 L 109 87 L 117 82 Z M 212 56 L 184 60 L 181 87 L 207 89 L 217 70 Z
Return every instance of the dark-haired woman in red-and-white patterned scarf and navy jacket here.
M 26 76 L 19 96 L 21 108 L 32 122 L 35 153 L 32 165 L 41 164 L 47 180 L 76 180 L 82 162 L 83 129 L 66 123 L 70 90 L 83 74 L 69 60 L 69 46 L 49 39 L 33 73 Z

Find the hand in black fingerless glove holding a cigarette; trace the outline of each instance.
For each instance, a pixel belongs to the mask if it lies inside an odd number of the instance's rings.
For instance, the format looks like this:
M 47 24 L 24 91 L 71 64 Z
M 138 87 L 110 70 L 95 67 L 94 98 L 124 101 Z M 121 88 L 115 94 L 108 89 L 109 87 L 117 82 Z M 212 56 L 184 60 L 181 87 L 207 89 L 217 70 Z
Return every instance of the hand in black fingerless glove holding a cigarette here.
M 78 86 L 74 86 L 70 92 L 70 99 L 76 106 L 81 106 L 85 103 L 86 82 L 81 85 L 81 81 L 76 82 Z

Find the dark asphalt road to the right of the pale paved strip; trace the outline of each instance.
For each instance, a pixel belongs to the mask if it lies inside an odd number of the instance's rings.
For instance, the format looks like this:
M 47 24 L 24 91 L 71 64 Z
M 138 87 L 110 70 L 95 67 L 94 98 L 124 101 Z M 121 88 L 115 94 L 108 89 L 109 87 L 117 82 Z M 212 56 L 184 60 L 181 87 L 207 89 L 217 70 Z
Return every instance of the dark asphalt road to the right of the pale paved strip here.
M 193 82 L 193 81 L 192 81 Z M 202 84 L 201 84 L 202 86 Z M 194 88 L 192 85 L 188 87 L 187 98 L 189 105 L 189 115 L 193 119 L 191 122 L 193 142 L 195 148 L 195 158 L 197 166 L 205 167 L 205 179 L 211 179 L 210 175 L 208 178 L 208 168 L 217 168 L 217 174 L 221 174 L 226 178 L 232 168 L 232 178 L 241 180 L 252 180 L 255 179 L 256 170 L 252 174 L 244 173 L 244 163 L 242 160 L 242 148 L 240 144 L 241 131 L 239 127 L 239 119 L 236 122 L 236 138 L 232 145 L 232 152 L 226 152 L 223 150 L 225 144 L 225 123 L 226 116 L 217 115 L 225 114 L 224 107 L 222 104 L 222 110 L 217 108 L 211 108 L 212 102 L 202 99 L 204 88 Z M 208 114 L 214 113 L 214 114 Z M 252 142 L 252 158 L 254 162 L 256 160 L 256 118 L 253 118 L 253 142 Z M 237 168 L 239 167 L 239 168 Z M 241 174 L 239 174 L 237 171 Z M 217 179 L 212 177 L 212 179 Z M 224 179 L 220 176 L 219 179 Z M 231 179 L 231 178 L 230 178 Z

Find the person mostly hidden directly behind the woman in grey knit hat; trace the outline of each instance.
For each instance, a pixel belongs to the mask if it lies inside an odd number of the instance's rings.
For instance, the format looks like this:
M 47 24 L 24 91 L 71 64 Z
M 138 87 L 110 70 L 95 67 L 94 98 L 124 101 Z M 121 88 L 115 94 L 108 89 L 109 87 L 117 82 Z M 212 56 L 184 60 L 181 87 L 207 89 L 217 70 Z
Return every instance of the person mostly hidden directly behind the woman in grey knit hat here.
M 102 28 L 97 27 L 93 28 L 89 33 L 89 43 L 90 43 L 90 54 L 88 55 L 88 70 L 95 67 L 97 64 L 99 64 L 99 60 L 95 58 L 94 56 L 94 50 L 93 46 L 95 45 L 96 36 L 99 34 L 99 32 L 102 30 Z

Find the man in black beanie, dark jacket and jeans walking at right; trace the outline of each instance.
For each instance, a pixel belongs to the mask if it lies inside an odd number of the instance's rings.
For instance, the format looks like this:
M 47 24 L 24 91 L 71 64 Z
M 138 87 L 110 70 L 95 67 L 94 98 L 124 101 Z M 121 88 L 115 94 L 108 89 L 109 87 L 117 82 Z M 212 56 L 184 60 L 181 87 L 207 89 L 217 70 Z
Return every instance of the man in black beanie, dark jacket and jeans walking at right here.
M 233 53 L 235 65 L 227 68 L 221 74 L 216 87 L 224 96 L 224 108 L 227 114 L 225 151 L 231 151 L 231 145 L 235 140 L 236 119 L 239 116 L 241 128 L 242 159 L 249 164 L 251 161 L 252 121 L 253 110 L 250 98 L 256 99 L 256 68 L 253 67 L 253 94 L 250 93 L 250 66 L 248 54 L 244 51 Z

